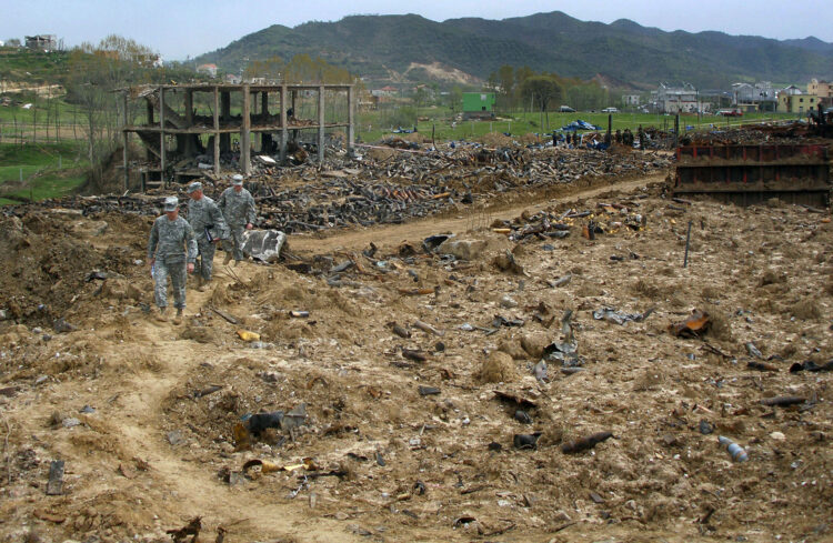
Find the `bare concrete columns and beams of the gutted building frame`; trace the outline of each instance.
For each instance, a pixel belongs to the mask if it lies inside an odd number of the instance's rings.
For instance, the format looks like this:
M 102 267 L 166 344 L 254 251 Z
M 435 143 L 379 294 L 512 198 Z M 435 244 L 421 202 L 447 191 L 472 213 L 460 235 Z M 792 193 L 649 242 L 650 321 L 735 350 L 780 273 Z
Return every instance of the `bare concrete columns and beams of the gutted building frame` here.
M 318 160 L 323 162 L 325 131 L 344 129 L 348 152 L 353 152 L 355 138 L 355 93 L 352 84 L 158 84 L 122 89 L 124 138 L 124 187 L 129 185 L 128 140 L 136 133 L 148 151 L 151 165 L 143 167 L 142 190 L 164 184 L 165 171 L 172 160 L 209 157 L 209 171 L 218 175 L 221 171 L 220 157 L 232 149 L 232 134 L 239 134 L 239 169 L 250 174 L 252 148 L 264 155 L 275 154 L 285 160 L 288 144 L 301 130 L 317 130 Z M 208 114 L 199 114 L 194 109 L 194 95 L 207 93 Z M 181 110 L 175 111 L 167 100 L 173 94 L 182 94 Z M 314 119 L 294 117 L 297 97 L 317 99 Z M 345 99 L 347 120 L 325 118 L 325 95 Z M 240 111 L 232 114 L 232 97 Z M 273 103 L 270 110 L 270 97 Z M 277 100 L 274 97 L 278 97 Z M 131 123 L 129 101 L 143 100 L 144 122 Z M 277 102 L 277 103 L 274 103 Z M 275 111 L 277 110 L 277 111 Z M 252 141 L 259 134 L 260 141 Z M 173 143 L 175 142 L 175 143 Z M 207 144 L 205 144 L 207 143 Z M 187 181 L 201 177 L 205 170 L 190 169 L 174 172 L 174 181 Z

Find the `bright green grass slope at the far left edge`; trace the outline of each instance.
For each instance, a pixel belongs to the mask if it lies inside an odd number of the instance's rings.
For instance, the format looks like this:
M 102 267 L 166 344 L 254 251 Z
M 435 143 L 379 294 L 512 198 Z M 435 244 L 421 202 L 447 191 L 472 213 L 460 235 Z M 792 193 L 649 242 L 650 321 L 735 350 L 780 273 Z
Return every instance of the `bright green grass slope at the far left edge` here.
M 88 165 L 79 151 L 74 142 L 0 144 L 0 205 L 72 192 L 84 181 Z

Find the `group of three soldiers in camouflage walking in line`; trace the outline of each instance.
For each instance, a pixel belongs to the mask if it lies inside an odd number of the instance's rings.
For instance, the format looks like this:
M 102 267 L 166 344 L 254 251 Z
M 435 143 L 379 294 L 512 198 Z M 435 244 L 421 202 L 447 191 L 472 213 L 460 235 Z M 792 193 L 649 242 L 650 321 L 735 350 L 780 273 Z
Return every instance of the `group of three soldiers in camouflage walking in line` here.
M 235 265 L 243 260 L 243 231 L 251 230 L 257 220 L 254 198 L 243 188 L 242 175 L 234 175 L 232 185 L 214 202 L 202 193 L 202 183 L 188 185 L 188 220 L 179 217 L 179 200 L 165 198 L 164 214 L 153 221 L 148 241 L 148 262 L 153 276 L 153 296 L 159 308 L 157 320 L 167 321 L 168 276 L 173 288 L 173 306 L 182 321 L 185 308 L 187 273 L 198 272 L 197 290 L 203 291 L 211 281 L 217 244 L 224 242 L 225 261 L 232 257 Z M 199 268 L 197 260 L 199 257 Z

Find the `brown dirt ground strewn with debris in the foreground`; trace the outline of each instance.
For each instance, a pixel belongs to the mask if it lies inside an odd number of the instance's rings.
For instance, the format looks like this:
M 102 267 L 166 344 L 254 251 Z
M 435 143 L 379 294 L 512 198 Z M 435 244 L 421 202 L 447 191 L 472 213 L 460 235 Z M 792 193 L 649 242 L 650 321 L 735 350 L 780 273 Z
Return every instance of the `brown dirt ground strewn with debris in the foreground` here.
M 830 373 L 789 372 L 832 358 L 830 214 L 675 203 L 663 178 L 290 237 L 282 264 L 218 253 L 180 325 L 148 314 L 151 218 L 2 219 L 0 541 L 162 542 L 194 517 L 203 542 L 831 541 Z M 540 213 L 570 234 L 508 238 Z M 440 233 L 469 260 L 420 249 Z M 672 334 L 694 310 L 711 328 Z M 571 334 L 579 369 L 536 379 Z M 298 428 L 234 430 L 301 404 Z

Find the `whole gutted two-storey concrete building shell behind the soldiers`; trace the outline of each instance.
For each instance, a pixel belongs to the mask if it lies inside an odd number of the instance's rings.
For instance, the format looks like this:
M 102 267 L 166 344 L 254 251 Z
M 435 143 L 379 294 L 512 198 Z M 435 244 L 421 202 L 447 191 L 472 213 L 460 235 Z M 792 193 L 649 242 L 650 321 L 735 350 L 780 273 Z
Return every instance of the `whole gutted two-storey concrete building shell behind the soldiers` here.
M 132 133 L 147 151 L 147 161 L 138 167 L 142 190 L 219 175 L 221 169 L 248 175 L 252 152 L 268 164 L 283 163 L 295 149 L 314 152 L 323 161 L 328 131 L 347 132 L 347 151 L 353 151 L 351 84 L 161 84 L 121 92 L 126 189 Z M 136 101 L 144 102 L 143 115 L 137 113 Z M 302 135 L 310 132 L 314 137 L 304 143 Z

